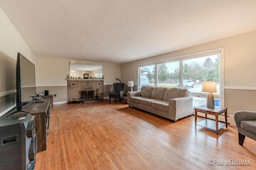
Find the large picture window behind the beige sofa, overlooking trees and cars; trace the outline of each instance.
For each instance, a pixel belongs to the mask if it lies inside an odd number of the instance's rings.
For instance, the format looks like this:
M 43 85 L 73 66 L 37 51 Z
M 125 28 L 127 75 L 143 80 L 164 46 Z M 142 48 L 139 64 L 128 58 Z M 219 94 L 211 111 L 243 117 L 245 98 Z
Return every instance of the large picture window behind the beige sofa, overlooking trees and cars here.
M 207 93 L 202 92 L 202 83 L 214 81 L 217 84 L 214 98 L 221 100 L 224 99 L 223 65 L 224 48 L 220 48 L 138 66 L 139 90 L 143 85 L 187 88 L 196 106 L 198 101 L 198 105 L 206 102 Z

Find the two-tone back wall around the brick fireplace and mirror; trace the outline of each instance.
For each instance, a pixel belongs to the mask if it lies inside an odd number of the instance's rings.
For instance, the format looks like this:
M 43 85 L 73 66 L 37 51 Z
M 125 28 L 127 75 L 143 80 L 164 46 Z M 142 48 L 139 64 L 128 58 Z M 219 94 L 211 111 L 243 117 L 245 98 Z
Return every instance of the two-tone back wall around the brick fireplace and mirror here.
M 108 97 L 108 85 L 119 82 L 115 78 L 121 77 L 120 64 L 102 63 L 93 61 L 81 61 L 56 57 L 36 56 L 36 91 L 42 93 L 49 90 L 49 94 L 57 93 L 54 104 L 66 103 L 67 101 L 67 77 L 69 74 L 69 62 L 102 64 L 104 76 L 104 97 Z

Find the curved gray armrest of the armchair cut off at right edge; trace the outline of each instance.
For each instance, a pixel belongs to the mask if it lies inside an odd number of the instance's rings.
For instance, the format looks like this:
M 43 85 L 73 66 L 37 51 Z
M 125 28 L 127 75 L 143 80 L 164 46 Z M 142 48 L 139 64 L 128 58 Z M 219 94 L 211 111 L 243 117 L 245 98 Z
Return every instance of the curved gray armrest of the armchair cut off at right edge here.
M 234 121 L 236 123 L 236 127 L 240 127 L 240 122 L 244 120 L 256 121 L 256 112 L 240 110 L 234 113 Z

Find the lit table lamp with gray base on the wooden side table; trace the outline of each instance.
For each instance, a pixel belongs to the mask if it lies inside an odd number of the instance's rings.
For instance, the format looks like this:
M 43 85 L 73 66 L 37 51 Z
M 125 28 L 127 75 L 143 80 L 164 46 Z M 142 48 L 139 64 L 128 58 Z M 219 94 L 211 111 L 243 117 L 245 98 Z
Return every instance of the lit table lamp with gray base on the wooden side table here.
M 217 93 L 216 82 L 203 82 L 202 92 L 208 92 L 207 107 L 214 108 L 214 96 L 212 93 Z

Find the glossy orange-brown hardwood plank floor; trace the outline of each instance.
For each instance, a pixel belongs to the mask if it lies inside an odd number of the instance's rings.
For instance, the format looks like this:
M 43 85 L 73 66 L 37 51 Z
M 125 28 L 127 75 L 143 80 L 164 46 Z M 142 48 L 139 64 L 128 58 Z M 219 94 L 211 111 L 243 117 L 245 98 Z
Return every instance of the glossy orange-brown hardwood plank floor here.
M 51 107 L 47 150 L 36 155 L 35 170 L 84 169 L 255 169 L 256 141 L 238 145 L 234 127 L 219 135 L 197 126 L 194 116 L 176 123 L 100 100 Z M 200 118 L 198 122 L 201 121 Z M 208 164 L 209 160 L 224 165 Z M 228 166 L 228 160 L 250 160 L 250 166 Z

